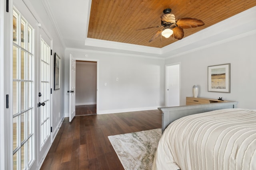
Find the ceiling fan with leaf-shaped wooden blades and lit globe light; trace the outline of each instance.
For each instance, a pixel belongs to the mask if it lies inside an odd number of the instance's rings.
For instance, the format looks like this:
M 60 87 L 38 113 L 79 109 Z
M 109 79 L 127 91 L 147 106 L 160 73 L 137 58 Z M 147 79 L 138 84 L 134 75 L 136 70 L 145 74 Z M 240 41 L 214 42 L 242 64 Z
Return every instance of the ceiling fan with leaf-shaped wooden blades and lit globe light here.
M 169 38 L 171 35 L 176 39 L 182 39 L 184 37 L 183 29 L 186 28 L 194 28 L 204 25 L 204 22 L 201 20 L 197 20 L 196 18 L 181 18 L 175 19 L 174 14 L 171 14 L 172 10 L 167 8 L 163 11 L 163 15 L 161 16 L 161 25 L 156 27 L 163 27 L 159 31 L 157 31 L 153 37 L 149 40 L 149 42 L 153 41 L 159 35 L 162 35 L 166 38 Z M 148 28 L 156 28 L 156 27 L 148 27 Z M 143 28 L 143 29 L 148 29 Z M 142 30 L 142 29 L 137 29 Z M 162 40 L 162 37 L 161 37 Z

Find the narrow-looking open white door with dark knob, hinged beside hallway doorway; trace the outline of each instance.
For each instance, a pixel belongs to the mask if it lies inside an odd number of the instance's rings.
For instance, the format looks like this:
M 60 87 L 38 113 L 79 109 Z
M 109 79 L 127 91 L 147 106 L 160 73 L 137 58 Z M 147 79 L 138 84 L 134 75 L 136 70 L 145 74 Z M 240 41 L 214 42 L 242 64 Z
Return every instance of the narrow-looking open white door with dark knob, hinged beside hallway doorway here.
M 76 60 L 70 54 L 70 74 L 69 74 L 69 121 L 76 115 Z

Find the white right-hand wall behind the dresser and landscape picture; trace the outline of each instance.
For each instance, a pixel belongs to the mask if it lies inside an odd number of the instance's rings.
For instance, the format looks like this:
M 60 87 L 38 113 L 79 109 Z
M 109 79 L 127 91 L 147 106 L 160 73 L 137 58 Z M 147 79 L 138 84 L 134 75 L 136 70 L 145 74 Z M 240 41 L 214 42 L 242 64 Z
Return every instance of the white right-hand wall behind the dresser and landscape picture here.
M 192 86 L 198 84 L 198 97 L 238 102 L 239 108 L 256 109 L 256 32 L 200 51 L 166 60 L 166 64 L 181 62 L 181 105 L 192 96 Z M 230 93 L 208 92 L 208 66 L 230 63 Z

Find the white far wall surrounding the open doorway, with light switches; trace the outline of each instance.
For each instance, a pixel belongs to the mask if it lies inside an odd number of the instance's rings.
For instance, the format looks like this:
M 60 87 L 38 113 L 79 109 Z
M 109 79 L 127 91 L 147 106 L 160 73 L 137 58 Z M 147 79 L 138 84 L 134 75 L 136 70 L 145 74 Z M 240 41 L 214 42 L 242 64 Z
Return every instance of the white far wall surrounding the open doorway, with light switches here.
M 65 53 L 65 91 L 69 89 L 70 53 L 74 58 L 86 59 L 85 55 L 88 55 L 87 59 L 99 61 L 98 114 L 164 106 L 163 59 L 72 49 L 67 49 Z M 65 103 L 68 103 L 68 93 L 65 95 Z M 66 105 L 65 116 L 68 116 Z

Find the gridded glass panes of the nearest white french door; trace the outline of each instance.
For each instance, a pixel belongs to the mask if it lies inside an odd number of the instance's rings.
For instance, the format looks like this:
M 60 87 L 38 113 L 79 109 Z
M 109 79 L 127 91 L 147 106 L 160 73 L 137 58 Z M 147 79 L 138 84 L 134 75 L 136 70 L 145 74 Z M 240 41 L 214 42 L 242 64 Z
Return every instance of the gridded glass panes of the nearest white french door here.
M 13 9 L 12 168 L 30 168 L 35 159 L 34 28 Z

